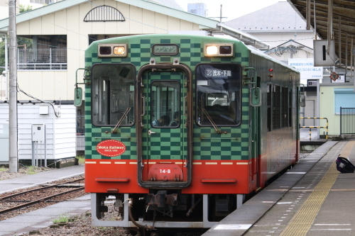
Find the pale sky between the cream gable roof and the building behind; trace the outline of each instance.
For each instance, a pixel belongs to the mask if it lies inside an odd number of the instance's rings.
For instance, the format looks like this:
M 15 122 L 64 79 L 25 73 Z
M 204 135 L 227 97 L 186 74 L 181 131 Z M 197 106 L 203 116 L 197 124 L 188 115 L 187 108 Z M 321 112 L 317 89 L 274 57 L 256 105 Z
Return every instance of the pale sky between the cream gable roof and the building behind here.
M 258 11 L 266 6 L 271 6 L 278 1 L 286 0 L 175 0 L 185 11 L 187 11 L 187 4 L 202 3 L 207 5 L 208 15 L 207 17 L 219 17 L 221 14 L 222 4 L 222 16 L 228 17 L 222 19 L 222 21 L 231 21 L 240 16 L 244 16 L 253 11 Z M 219 21 L 219 18 L 215 18 Z

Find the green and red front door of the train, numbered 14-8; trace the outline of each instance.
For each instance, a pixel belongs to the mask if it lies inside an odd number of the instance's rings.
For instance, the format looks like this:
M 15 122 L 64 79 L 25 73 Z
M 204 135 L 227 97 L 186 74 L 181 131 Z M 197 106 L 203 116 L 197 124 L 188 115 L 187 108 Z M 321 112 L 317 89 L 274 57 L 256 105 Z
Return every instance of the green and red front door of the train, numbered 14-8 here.
M 142 73 L 141 186 L 186 186 L 190 179 L 186 84 L 181 70 Z

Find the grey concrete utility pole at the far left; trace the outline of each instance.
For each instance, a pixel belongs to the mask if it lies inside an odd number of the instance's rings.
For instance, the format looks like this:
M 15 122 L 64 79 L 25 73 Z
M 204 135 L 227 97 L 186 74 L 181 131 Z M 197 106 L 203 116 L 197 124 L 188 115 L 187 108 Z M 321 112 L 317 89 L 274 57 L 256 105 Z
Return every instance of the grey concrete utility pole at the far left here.
M 18 172 L 16 0 L 9 0 L 9 172 Z

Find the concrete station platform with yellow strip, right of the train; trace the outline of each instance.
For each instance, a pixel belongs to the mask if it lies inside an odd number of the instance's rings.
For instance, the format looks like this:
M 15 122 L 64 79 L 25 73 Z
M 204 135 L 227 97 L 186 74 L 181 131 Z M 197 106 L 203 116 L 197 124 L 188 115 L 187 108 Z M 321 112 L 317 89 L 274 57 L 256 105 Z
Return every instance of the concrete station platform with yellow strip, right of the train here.
M 355 174 L 339 174 L 339 154 L 355 163 L 355 140 L 325 142 L 204 236 L 355 235 Z

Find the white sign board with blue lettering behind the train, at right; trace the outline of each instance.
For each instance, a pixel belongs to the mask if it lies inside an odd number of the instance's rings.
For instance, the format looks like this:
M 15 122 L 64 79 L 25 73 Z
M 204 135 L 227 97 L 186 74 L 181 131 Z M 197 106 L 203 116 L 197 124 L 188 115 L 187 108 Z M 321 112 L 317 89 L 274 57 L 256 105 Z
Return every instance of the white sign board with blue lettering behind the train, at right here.
M 288 65 L 300 72 L 300 79 L 323 79 L 323 67 L 315 67 L 313 58 L 290 58 Z

